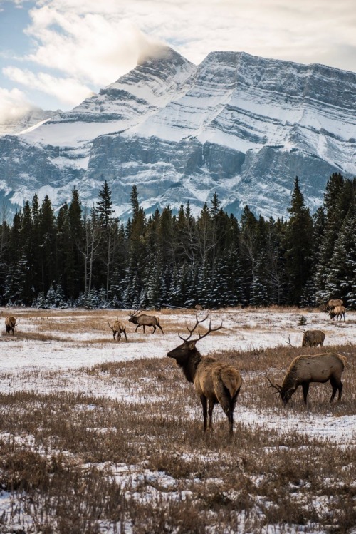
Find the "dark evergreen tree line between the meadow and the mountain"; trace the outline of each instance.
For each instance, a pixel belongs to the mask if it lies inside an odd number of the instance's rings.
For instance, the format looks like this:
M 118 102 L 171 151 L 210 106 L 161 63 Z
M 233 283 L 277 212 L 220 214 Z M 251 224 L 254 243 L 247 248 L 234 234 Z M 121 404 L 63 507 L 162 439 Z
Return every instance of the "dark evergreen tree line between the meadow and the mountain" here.
M 78 190 L 53 210 L 34 195 L 0 227 L 0 302 L 33 307 L 318 306 L 356 308 L 356 178 L 330 176 L 323 206 L 305 207 L 298 177 L 286 220 L 238 220 L 218 195 L 194 217 L 189 202 L 114 216 L 107 181 L 83 207 Z

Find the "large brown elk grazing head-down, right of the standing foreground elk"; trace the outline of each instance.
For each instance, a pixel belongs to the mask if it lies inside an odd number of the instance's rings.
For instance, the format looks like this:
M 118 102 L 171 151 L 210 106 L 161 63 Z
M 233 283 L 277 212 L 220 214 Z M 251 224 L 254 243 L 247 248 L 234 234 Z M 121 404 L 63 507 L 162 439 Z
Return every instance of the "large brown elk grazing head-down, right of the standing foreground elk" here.
M 333 393 L 330 396 L 330 403 L 333 402 L 336 391 L 339 390 L 338 401 L 342 394 L 342 371 L 346 364 L 345 356 L 335 352 L 318 354 L 317 356 L 297 356 L 290 364 L 286 376 L 281 386 L 273 384 L 268 379 L 271 387 L 281 395 L 283 406 L 286 406 L 290 397 L 302 386 L 304 403 L 307 404 L 307 396 L 310 382 L 320 382 L 324 384 L 330 380 Z

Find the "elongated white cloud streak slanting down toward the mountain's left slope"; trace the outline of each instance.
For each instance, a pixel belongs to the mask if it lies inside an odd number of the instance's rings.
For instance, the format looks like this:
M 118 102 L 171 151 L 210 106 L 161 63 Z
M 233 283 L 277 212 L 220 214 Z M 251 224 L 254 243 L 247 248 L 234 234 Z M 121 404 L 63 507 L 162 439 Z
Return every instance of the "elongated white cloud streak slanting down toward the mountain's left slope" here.
M 21 83 L 26 88 L 56 96 L 59 101 L 73 106 L 93 94 L 90 88 L 73 78 L 56 78 L 56 76 L 42 72 L 35 74 L 16 67 L 6 67 L 3 71 L 5 76 L 12 81 Z

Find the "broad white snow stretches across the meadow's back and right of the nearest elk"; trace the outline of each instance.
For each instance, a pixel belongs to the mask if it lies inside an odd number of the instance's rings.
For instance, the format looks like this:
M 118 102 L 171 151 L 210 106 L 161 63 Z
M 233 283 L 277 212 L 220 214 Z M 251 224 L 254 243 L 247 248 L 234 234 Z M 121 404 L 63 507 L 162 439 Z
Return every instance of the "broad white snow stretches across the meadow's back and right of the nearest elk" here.
M 195 321 L 193 310 L 150 312 L 159 316 L 164 330 L 164 335 L 158 330 L 152 335 L 147 331 L 143 334 L 142 329 L 135 333 L 135 327 L 127 322 L 127 310 L 73 313 L 70 310 L 14 309 L 3 310 L 3 315 L 8 312 L 18 317 L 19 326 L 14 337 L 4 332 L 0 337 L 0 392 L 67 390 L 130 402 L 142 402 L 142 399 L 132 396 L 132 391 L 117 389 L 116 385 L 98 383 L 95 376 L 84 374 L 80 369 L 108 361 L 164 358 L 167 351 L 181 342 L 177 334 L 187 334 L 186 325 L 192 326 Z M 199 312 L 199 317 L 205 314 Z M 303 327 L 298 326 L 301 315 L 307 322 Z M 127 343 L 112 339 L 107 320 L 112 323 L 116 317 L 127 325 Z M 85 331 L 88 318 L 90 321 L 95 318 L 95 329 Z M 353 344 L 356 339 L 356 312 L 347 312 L 345 322 L 331 321 L 325 312 L 300 309 L 223 309 L 211 311 L 209 319 L 212 327 L 222 322 L 224 328 L 201 340 L 199 350 L 205 355 L 224 350 L 258 350 L 286 343 L 300 346 L 303 329 L 323 329 L 326 337 L 320 351 L 328 351 L 328 346 Z M 36 337 L 36 332 L 42 340 L 25 337 L 25 334 Z M 51 336 L 55 339 L 48 339 Z M 281 370 L 281 376 L 284 371 Z M 281 432 L 293 429 L 337 443 L 353 439 L 356 443 L 356 414 L 336 417 L 332 412 L 326 416 L 307 412 L 300 415 L 286 410 L 281 418 L 279 414 L 268 412 L 261 416 L 253 409 L 239 406 L 236 406 L 236 413 L 240 409 L 244 411 L 244 422 L 249 425 L 268 424 Z

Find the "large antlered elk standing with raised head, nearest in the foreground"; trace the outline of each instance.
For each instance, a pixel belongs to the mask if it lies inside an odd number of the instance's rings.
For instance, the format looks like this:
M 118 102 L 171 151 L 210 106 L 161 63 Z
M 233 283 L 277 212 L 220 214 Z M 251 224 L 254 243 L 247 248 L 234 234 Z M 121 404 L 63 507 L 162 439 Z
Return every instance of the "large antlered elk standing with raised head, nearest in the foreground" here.
M 201 335 L 198 330 L 197 339 L 191 339 L 193 332 L 197 329 L 199 323 L 204 322 L 208 316 L 199 320 L 196 314 L 196 323 L 192 329 L 187 326 L 190 332 L 189 336 L 183 340 L 183 343 L 176 349 L 167 353 L 169 358 L 175 359 L 179 367 L 182 368 L 184 376 L 189 382 L 194 384 L 195 391 L 200 397 L 203 406 L 204 432 L 207 428 L 207 415 L 209 414 L 209 428 L 212 430 L 212 416 L 215 404 L 220 404 L 228 420 L 230 436 L 233 434 L 234 426 L 234 409 L 241 389 L 242 379 L 239 371 L 231 365 L 223 364 L 216 361 L 211 356 L 201 356 L 196 348 L 197 342 L 206 337 L 211 332 L 216 332 L 222 327 L 222 324 L 212 329 L 211 321 L 208 331 Z M 207 404 L 209 401 L 209 411 Z

